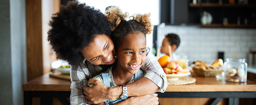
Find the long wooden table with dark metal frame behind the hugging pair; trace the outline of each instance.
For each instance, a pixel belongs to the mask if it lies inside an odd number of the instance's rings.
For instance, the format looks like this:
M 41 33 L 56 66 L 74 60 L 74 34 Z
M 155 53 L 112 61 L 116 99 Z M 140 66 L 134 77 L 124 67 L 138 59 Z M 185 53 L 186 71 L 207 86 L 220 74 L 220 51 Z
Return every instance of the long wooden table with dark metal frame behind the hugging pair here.
M 168 85 L 159 98 L 215 98 L 211 103 L 216 105 L 222 98 L 229 98 L 229 105 L 238 105 L 239 98 L 254 98 L 256 104 L 256 82 L 233 83 L 217 80 L 215 77 L 190 77 L 196 82 L 189 85 Z M 41 98 L 41 105 L 50 105 L 51 98 L 58 98 L 64 105 L 64 98 L 70 97 L 70 81 L 49 77 L 49 73 L 22 85 L 24 105 L 31 105 L 32 98 Z

